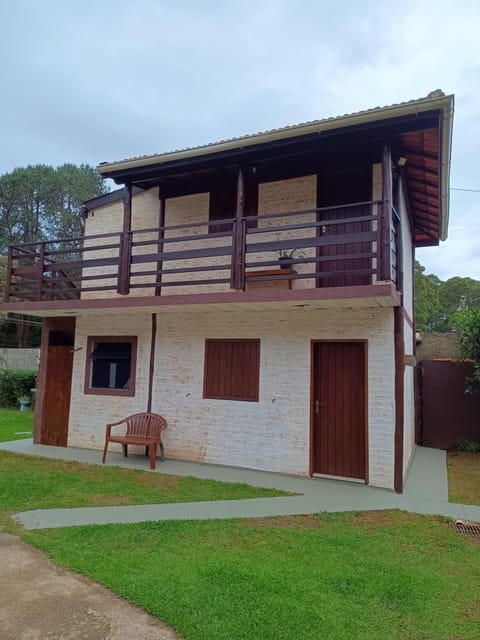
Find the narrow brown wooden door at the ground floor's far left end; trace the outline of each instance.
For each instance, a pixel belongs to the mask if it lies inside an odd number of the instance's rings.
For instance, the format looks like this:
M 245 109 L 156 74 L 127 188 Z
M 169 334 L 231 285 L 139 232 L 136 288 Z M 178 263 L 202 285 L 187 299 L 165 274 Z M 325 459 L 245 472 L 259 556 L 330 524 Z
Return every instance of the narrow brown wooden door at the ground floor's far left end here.
M 45 391 L 41 417 L 41 444 L 67 446 L 73 347 L 47 347 Z

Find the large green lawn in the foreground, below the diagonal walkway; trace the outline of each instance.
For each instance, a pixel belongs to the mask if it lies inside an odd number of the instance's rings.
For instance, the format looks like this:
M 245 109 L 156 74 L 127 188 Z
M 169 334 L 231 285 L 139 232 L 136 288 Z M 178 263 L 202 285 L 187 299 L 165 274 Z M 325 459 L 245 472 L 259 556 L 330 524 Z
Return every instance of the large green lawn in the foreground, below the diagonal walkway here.
M 477 640 L 480 546 L 401 512 L 30 531 L 188 640 Z

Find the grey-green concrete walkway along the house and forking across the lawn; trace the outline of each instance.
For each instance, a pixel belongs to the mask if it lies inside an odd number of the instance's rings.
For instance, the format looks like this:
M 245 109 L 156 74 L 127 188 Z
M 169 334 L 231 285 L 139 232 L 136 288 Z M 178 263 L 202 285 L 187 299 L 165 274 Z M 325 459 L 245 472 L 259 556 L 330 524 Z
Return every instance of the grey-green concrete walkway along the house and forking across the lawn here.
M 33 445 L 31 440 L 0 443 L 0 450 L 89 464 L 99 464 L 101 459 L 100 451 Z M 110 465 L 149 471 L 147 460 L 140 456 L 131 455 L 125 459 L 119 453 L 109 453 Z M 243 482 L 259 487 L 283 489 L 299 495 L 124 507 L 36 509 L 18 513 L 14 517 L 26 529 L 151 520 L 255 518 L 381 509 L 402 509 L 412 513 L 480 521 L 480 506 L 448 502 L 446 454 L 436 449 L 417 448 L 402 495 L 354 482 L 288 476 L 178 460 L 158 461 L 156 471 L 151 473 L 194 476 L 222 482 Z

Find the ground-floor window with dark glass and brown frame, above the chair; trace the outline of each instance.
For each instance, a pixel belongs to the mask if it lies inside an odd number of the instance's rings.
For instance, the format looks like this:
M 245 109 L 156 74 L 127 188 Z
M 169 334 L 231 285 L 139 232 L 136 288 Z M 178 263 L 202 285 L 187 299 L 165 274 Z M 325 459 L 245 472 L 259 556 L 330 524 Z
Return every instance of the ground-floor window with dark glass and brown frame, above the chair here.
M 134 396 L 137 338 L 89 336 L 85 393 Z

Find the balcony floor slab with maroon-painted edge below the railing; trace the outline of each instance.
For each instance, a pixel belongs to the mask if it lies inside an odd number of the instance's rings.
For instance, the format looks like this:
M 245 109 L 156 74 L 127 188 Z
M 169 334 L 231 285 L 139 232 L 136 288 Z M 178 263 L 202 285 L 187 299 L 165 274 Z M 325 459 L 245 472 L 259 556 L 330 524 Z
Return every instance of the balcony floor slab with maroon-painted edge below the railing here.
M 39 317 L 112 314 L 115 311 L 175 313 L 298 309 L 366 309 L 396 307 L 400 294 L 392 283 L 317 289 L 261 289 L 175 296 L 118 296 L 88 300 L 8 302 L 0 312 Z

